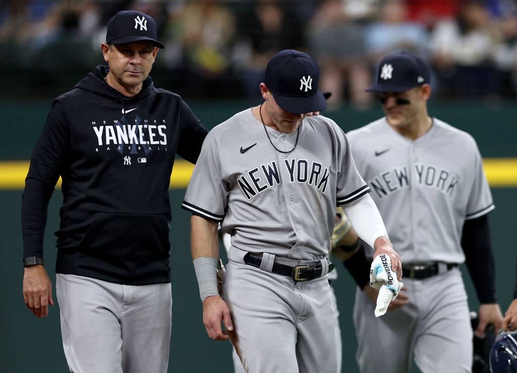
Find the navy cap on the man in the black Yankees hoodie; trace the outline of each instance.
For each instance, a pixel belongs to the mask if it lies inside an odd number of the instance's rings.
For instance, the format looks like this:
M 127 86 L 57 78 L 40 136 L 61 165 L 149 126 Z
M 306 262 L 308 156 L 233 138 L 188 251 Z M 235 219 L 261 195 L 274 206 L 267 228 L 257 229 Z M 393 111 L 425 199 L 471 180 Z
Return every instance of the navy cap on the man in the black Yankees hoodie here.
M 150 40 L 159 48 L 163 44 L 156 40 L 155 20 L 136 10 L 121 10 L 108 22 L 106 42 L 124 44 L 132 41 Z

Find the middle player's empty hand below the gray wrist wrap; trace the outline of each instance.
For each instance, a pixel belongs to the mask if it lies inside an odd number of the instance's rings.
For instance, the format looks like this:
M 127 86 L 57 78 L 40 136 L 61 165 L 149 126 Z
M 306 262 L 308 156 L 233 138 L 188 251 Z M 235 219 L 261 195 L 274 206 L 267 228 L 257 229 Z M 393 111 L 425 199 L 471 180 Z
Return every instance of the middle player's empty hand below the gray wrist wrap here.
M 221 320 L 225 330 L 221 328 Z M 206 297 L 203 301 L 203 323 L 210 338 L 215 340 L 230 338 L 228 333 L 233 331 L 230 309 L 218 295 Z

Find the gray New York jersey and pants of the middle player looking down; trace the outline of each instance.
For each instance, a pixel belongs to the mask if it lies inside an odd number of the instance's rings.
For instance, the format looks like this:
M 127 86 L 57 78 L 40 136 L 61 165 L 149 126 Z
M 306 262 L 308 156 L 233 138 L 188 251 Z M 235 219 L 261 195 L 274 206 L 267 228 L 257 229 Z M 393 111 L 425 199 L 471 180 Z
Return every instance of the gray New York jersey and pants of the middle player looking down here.
M 317 116 L 298 133 L 266 131 L 251 109 L 210 131 L 183 208 L 221 223 L 232 235 L 222 298 L 232 312 L 242 364 L 249 371 L 337 370 L 336 319 L 326 275 L 306 282 L 245 264 L 326 263 L 337 204 L 370 191 L 345 134 Z M 277 262 L 278 260 L 278 262 Z M 261 267 L 262 268 L 262 267 Z M 269 269 L 268 269 L 269 268 Z

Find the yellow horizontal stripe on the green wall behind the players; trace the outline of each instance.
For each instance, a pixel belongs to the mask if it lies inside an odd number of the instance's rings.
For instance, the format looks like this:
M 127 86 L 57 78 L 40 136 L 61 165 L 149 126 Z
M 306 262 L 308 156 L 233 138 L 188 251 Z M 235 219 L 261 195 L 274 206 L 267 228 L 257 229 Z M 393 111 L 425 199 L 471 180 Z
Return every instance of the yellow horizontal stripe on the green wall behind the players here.
M 485 158 L 483 166 L 491 187 L 517 187 L 517 158 Z M 29 162 L 25 160 L 0 162 L 0 189 L 23 189 L 28 168 Z M 171 188 L 186 188 L 193 169 L 194 165 L 186 160 L 176 160 L 171 175 Z M 60 185 L 61 179 L 56 187 Z

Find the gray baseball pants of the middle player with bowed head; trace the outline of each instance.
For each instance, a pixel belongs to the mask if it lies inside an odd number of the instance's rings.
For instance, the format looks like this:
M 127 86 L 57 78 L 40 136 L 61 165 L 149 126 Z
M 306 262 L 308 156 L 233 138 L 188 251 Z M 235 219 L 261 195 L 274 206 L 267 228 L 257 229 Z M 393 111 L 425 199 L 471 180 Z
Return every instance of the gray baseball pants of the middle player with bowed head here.
M 229 252 L 223 299 L 246 370 L 335 373 L 336 328 L 327 276 L 295 282 L 246 265 L 235 250 Z

